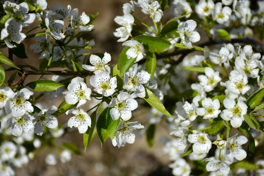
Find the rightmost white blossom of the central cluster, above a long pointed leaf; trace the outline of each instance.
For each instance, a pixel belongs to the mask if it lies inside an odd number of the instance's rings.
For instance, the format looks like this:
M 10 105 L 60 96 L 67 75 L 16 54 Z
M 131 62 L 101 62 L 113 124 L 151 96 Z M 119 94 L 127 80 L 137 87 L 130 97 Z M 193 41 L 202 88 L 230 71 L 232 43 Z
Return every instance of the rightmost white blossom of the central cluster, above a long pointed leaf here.
M 136 96 L 143 98 L 146 96 L 145 88 L 143 84 L 146 84 L 151 78 L 145 70 L 137 72 L 137 64 L 134 64 L 129 68 L 128 72 L 124 74 L 123 88 L 129 91 L 133 91 Z

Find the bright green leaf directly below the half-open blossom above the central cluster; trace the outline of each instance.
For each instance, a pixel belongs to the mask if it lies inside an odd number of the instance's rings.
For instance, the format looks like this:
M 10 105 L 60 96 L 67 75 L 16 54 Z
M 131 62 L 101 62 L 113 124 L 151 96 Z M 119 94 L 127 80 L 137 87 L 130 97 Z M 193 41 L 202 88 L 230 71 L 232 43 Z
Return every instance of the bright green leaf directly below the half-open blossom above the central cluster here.
M 128 59 L 126 52 L 129 48 L 130 48 L 129 46 L 126 46 L 123 49 L 123 51 L 120 53 L 118 58 L 118 69 L 120 71 L 121 77 L 124 76 L 125 72 L 128 71 L 128 69 L 135 63 L 136 60 L 136 58 Z

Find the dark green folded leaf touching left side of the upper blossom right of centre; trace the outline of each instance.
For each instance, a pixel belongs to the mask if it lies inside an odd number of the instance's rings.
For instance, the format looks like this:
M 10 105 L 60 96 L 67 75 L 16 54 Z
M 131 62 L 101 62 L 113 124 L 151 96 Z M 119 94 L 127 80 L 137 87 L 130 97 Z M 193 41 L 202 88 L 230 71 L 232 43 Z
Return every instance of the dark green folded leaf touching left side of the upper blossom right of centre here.
M 170 22 L 166 24 L 160 31 L 160 35 L 164 38 L 176 38 L 179 37 L 178 22 Z

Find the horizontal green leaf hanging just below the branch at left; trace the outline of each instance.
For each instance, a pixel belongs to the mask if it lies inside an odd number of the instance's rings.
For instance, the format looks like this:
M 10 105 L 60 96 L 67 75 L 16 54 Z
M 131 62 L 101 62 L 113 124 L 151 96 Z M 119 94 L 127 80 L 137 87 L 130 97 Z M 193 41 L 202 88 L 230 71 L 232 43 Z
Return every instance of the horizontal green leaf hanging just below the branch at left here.
M 52 80 L 37 80 L 27 83 L 26 86 L 38 91 L 53 91 L 64 85 Z

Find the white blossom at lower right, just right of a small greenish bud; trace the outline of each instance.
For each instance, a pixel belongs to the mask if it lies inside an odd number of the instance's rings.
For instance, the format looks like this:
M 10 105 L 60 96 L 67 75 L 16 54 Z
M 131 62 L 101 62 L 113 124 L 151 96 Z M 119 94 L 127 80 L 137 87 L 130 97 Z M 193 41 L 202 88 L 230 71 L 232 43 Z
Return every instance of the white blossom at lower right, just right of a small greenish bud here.
M 234 158 L 241 161 L 246 157 L 246 152 L 242 149 L 241 146 L 247 142 L 247 138 L 245 136 L 237 135 L 238 134 L 229 137 L 227 139 L 225 147 L 226 157 L 228 157 L 232 161 L 234 160 Z

